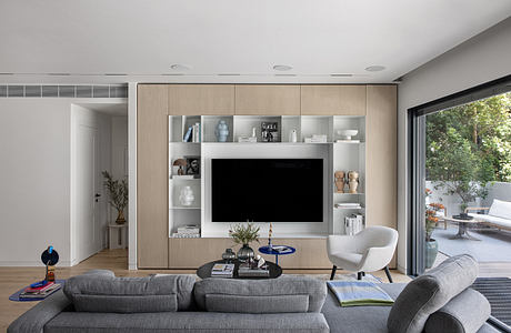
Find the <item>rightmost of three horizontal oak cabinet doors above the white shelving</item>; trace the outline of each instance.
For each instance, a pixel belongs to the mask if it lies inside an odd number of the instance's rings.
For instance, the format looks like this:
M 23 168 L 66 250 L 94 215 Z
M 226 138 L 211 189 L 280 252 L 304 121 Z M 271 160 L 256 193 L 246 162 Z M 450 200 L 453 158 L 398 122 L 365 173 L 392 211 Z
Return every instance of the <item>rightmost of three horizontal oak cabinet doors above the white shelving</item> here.
M 365 85 L 302 85 L 302 115 L 365 115 Z

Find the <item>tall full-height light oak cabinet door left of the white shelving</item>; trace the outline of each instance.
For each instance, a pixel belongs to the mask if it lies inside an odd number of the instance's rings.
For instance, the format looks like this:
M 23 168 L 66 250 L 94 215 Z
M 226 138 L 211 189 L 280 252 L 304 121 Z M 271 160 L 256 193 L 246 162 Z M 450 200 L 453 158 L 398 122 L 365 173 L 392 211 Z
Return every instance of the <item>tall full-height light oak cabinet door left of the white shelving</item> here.
M 137 259 L 168 268 L 168 87 L 139 84 L 137 98 Z

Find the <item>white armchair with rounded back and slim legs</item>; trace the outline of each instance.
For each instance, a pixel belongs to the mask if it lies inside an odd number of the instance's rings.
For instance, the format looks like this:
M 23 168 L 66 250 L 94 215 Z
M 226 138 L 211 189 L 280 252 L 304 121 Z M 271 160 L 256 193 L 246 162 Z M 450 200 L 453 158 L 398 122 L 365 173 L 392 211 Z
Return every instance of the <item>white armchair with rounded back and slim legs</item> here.
M 361 280 L 365 272 L 385 270 L 389 282 L 392 276 L 388 264 L 398 244 L 398 232 L 387 226 L 370 226 L 355 235 L 329 235 L 327 251 L 333 264 L 330 280 L 338 268 L 358 273 Z

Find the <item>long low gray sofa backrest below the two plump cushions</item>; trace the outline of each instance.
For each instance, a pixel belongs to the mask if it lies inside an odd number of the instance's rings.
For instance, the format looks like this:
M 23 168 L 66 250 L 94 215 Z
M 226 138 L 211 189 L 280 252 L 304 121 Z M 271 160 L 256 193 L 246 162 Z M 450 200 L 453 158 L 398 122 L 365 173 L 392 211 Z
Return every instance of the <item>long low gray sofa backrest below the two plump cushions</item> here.
M 321 313 L 88 313 L 62 312 L 44 326 L 44 333 L 328 333 Z

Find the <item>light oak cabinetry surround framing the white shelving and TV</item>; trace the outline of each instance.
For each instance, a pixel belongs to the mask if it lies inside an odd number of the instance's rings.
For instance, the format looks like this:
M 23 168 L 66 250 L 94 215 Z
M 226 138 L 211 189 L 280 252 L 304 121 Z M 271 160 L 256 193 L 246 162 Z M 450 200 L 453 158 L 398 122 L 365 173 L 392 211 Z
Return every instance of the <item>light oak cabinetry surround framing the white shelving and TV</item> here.
M 227 248 L 233 246 L 227 238 L 169 238 L 168 151 L 171 140 L 168 114 L 303 115 L 285 119 L 305 120 L 297 128 L 307 128 L 310 121 L 329 120 L 324 117 L 309 119 L 308 115 L 360 115 L 353 121 L 363 120 L 365 128 L 362 140 L 365 143 L 360 143 L 360 147 L 365 148 L 362 189 L 365 192 L 367 224 L 397 226 L 395 85 L 139 84 L 137 112 L 137 246 L 140 269 L 194 269 L 219 259 Z M 335 117 L 332 119 L 334 123 L 340 121 Z M 334 141 L 333 137 L 331 141 Z M 279 259 L 284 269 L 330 268 L 324 238 L 275 239 L 273 243 L 297 248 L 297 253 Z M 274 261 L 274 256 L 265 258 Z

